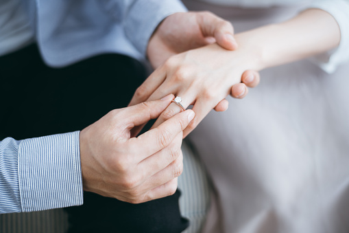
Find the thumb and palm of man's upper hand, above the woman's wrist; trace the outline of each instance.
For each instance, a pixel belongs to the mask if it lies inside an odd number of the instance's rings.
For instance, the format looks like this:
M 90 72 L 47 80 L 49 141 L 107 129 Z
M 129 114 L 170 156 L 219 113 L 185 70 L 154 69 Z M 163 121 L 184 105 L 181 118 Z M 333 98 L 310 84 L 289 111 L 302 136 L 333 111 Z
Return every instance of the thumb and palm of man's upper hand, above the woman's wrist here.
M 154 32 L 147 47 L 147 57 L 156 69 L 172 55 L 217 42 L 234 50 L 237 42 L 228 21 L 211 12 L 185 12 L 168 16 Z

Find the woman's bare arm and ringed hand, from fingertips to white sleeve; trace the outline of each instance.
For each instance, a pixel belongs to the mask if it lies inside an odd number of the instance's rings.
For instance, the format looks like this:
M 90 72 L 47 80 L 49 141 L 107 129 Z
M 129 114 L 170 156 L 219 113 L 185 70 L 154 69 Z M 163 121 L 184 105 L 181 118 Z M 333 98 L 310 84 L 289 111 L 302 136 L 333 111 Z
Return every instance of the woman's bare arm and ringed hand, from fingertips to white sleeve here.
M 167 59 L 134 93 L 130 104 L 167 93 L 180 96 L 182 105 L 193 104 L 195 111 L 185 137 L 232 92 L 246 70 L 260 71 L 326 52 L 339 45 L 340 30 L 333 16 L 311 9 L 285 23 L 259 27 L 235 38 L 239 47 L 234 51 L 212 44 Z M 154 126 L 179 111 L 171 104 Z

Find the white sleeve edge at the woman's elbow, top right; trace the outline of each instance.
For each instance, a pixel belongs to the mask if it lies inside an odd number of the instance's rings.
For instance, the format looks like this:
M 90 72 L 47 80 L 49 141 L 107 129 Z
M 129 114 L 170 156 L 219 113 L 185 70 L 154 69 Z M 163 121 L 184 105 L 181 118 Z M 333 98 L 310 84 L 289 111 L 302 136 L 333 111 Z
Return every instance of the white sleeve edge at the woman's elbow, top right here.
M 341 30 L 341 42 L 336 49 L 313 58 L 313 62 L 319 65 L 324 71 L 331 74 L 339 65 L 349 60 L 349 1 L 331 0 L 315 1 L 309 8 L 317 8 L 331 14 Z

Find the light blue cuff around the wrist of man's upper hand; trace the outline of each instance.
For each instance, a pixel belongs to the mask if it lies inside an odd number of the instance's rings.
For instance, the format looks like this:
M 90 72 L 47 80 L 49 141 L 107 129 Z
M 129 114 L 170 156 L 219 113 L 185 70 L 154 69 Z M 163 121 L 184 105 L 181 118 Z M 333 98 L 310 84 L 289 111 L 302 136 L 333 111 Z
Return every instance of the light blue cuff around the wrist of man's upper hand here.
M 149 38 L 158 24 L 173 13 L 186 11 L 182 2 L 177 0 L 136 1 L 125 17 L 125 34 L 134 47 L 146 56 Z

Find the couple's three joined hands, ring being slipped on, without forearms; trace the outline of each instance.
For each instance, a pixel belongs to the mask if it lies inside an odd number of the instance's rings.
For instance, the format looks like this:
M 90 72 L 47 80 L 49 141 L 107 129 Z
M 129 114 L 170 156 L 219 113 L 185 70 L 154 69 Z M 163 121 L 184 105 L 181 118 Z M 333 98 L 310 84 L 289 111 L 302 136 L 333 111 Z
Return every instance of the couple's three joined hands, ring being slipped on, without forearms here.
M 258 73 L 245 65 L 249 56 L 232 57 L 232 34 L 230 23 L 208 12 L 176 13 L 160 24 L 147 56 L 154 67 L 163 65 L 137 89 L 131 107 L 110 111 L 80 133 L 84 190 L 130 203 L 176 191 L 182 138 L 211 109 L 226 110 L 226 96 L 245 96 L 241 77 L 250 87 L 258 84 Z M 173 94 L 193 111 L 180 112 Z M 152 129 L 134 137 L 156 118 Z

